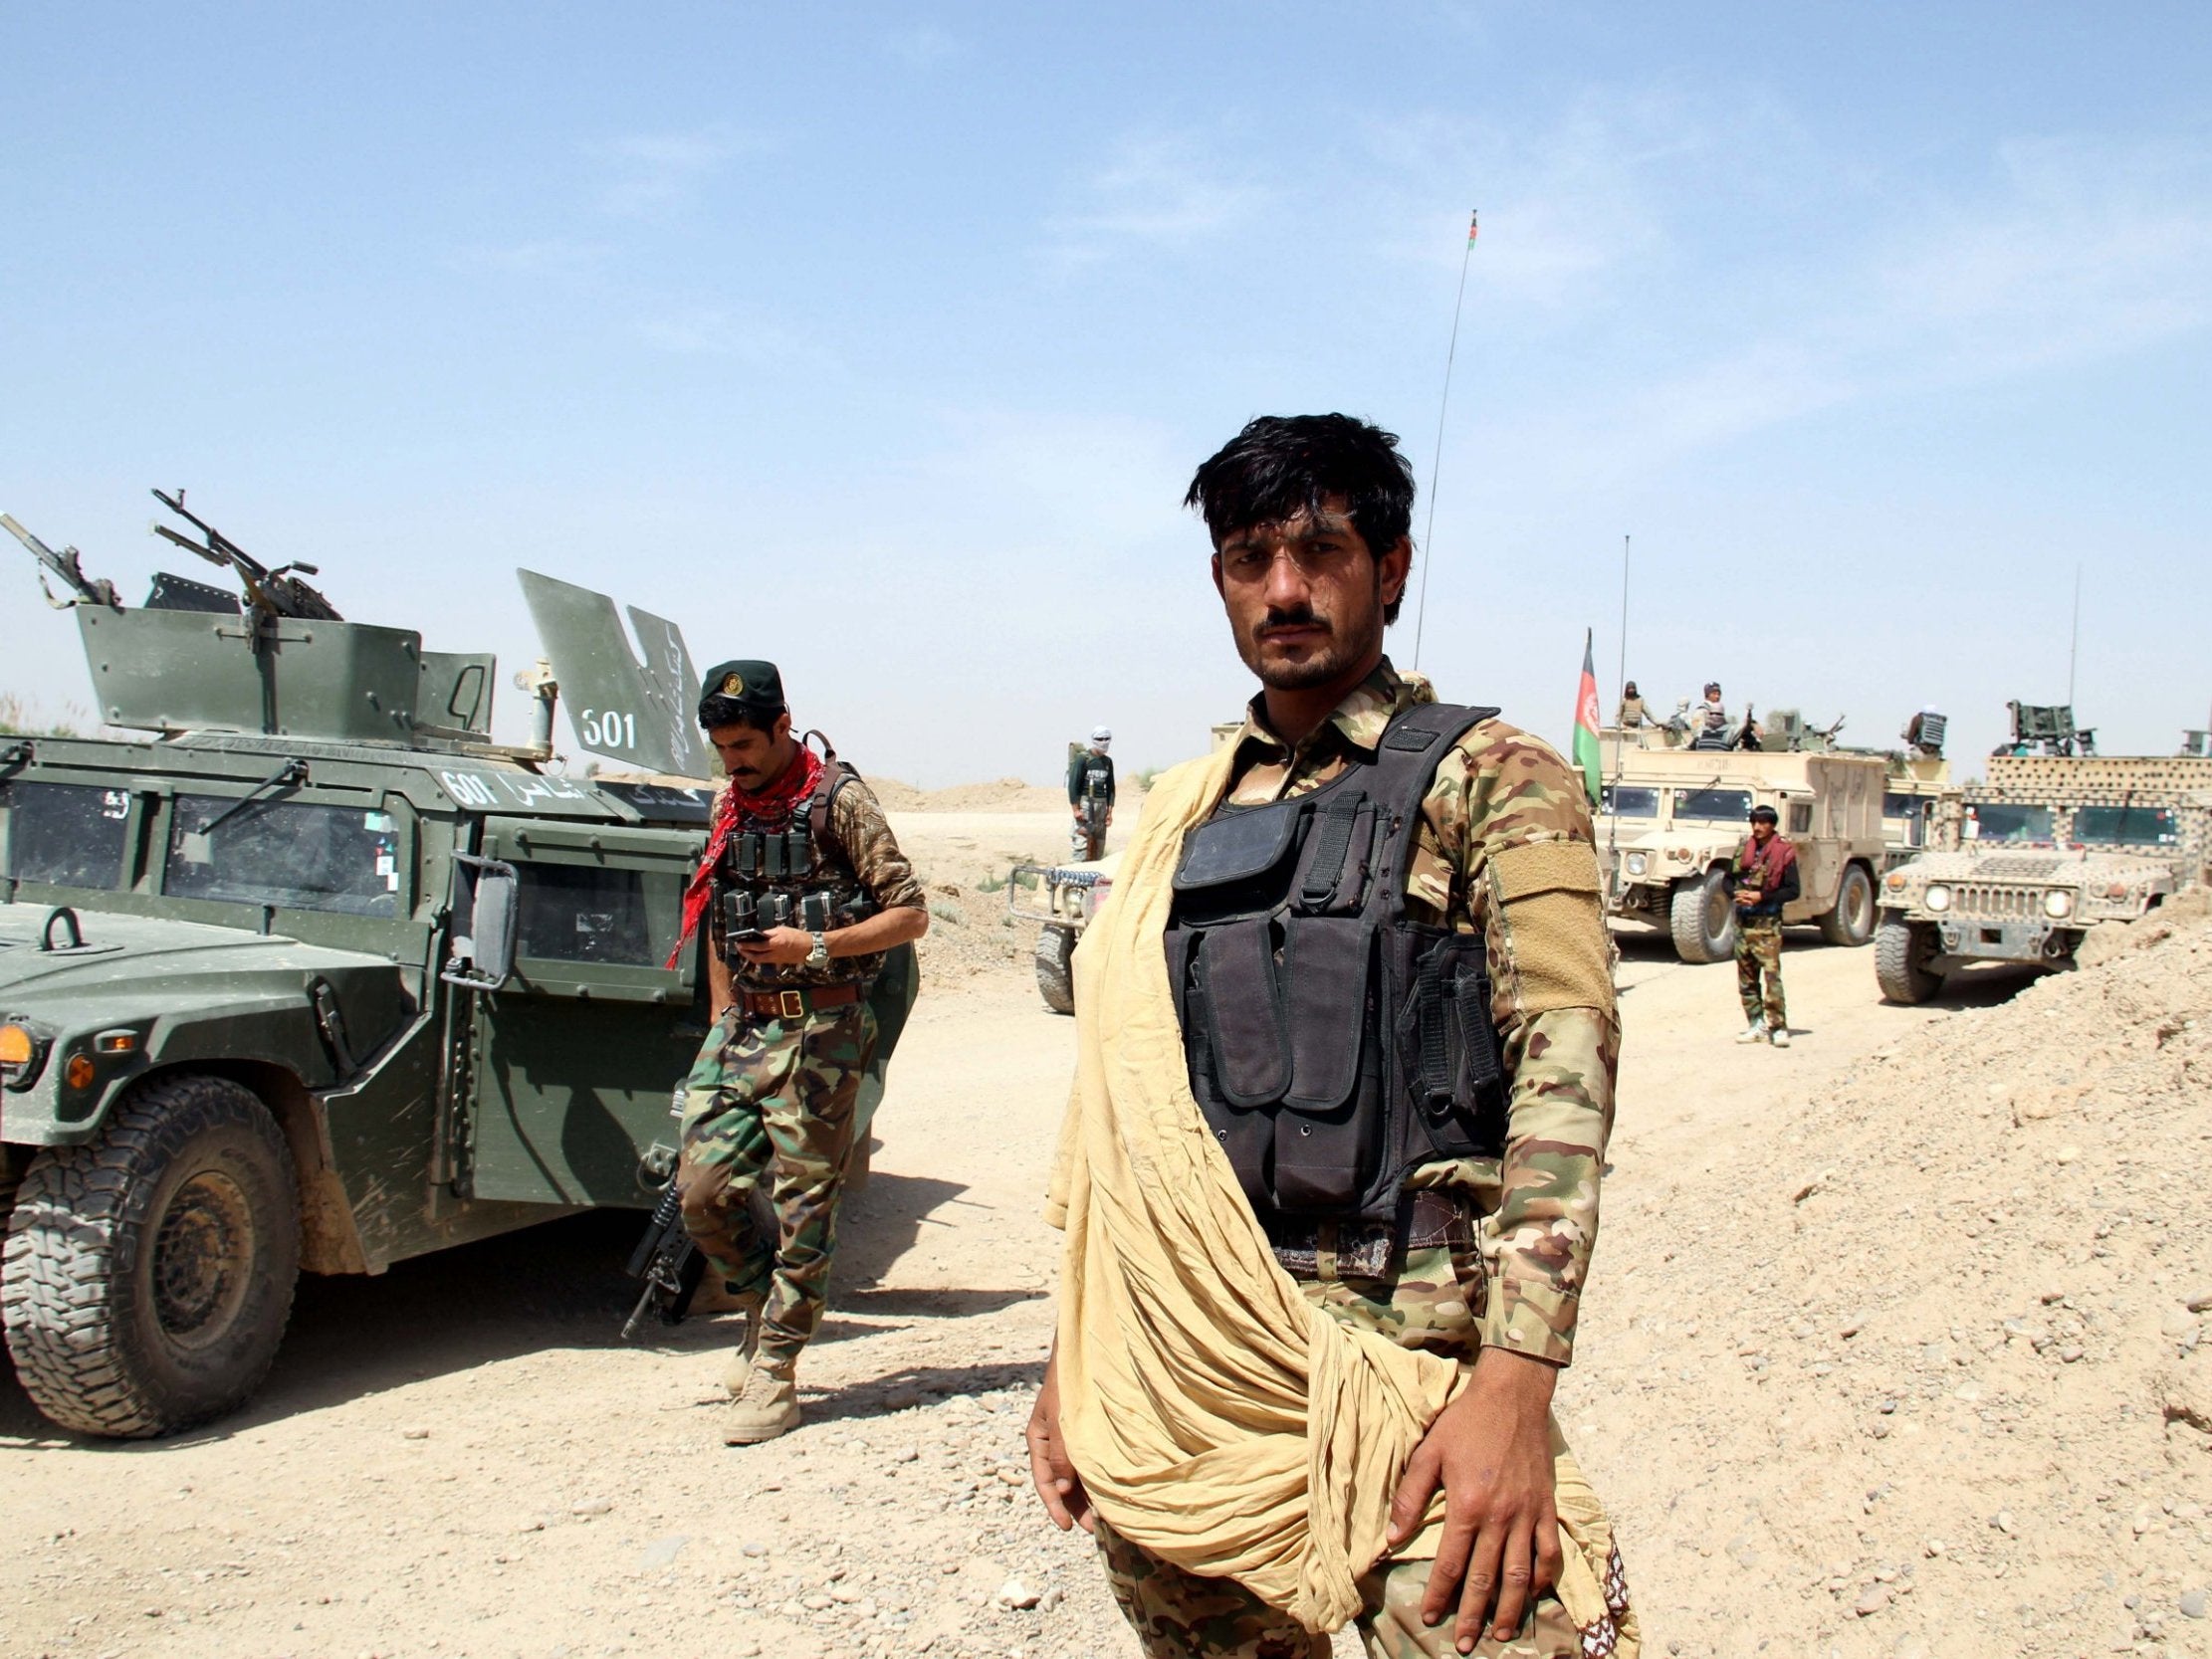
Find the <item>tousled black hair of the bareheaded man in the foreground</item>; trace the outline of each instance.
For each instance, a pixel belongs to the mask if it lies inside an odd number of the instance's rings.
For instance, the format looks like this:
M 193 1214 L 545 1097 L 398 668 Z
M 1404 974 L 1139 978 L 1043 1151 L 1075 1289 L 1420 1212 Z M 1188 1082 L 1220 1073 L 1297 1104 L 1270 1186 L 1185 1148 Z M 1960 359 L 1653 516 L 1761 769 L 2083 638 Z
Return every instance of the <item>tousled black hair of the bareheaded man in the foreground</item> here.
M 1352 529 L 1380 560 L 1413 531 L 1413 469 L 1398 436 L 1347 414 L 1259 416 L 1199 465 L 1183 495 L 1219 549 L 1237 531 L 1318 513 L 1343 495 Z M 1383 622 L 1398 619 L 1398 599 Z

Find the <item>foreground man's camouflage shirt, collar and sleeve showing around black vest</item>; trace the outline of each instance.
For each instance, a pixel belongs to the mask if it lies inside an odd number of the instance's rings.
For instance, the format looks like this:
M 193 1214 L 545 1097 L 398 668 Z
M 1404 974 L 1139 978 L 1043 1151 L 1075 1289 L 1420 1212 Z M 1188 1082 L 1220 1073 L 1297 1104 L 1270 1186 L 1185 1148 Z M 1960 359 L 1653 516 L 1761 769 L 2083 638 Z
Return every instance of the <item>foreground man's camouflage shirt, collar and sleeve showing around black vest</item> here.
M 1374 757 L 1394 714 L 1433 701 L 1425 679 L 1385 657 L 1327 721 L 1285 745 L 1254 697 L 1225 803 L 1318 790 L 1349 752 Z M 1484 1217 L 1484 1345 L 1566 1365 L 1597 1241 L 1619 1015 L 1588 799 L 1557 750 L 1498 719 L 1460 737 L 1422 799 L 1407 914 L 1484 936 L 1513 1079 L 1504 1157 L 1429 1164 L 1407 1186 L 1464 1192 Z

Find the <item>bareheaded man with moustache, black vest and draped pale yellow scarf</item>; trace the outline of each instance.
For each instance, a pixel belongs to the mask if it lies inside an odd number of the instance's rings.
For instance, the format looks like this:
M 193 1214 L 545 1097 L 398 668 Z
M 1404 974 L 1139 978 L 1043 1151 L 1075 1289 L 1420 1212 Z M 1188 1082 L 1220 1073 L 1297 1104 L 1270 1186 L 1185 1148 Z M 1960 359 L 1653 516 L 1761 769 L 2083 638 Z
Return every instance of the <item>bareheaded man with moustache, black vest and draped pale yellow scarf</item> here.
M 1582 783 L 1383 655 L 1396 438 L 1259 418 L 1188 504 L 1263 690 L 1146 796 L 1086 936 L 1037 1493 L 1152 1659 L 1352 1619 L 1374 1655 L 1613 1652 L 1619 1555 L 1548 1416 L 1619 1057 Z M 1405 987 L 1409 1031 L 1369 1013 Z

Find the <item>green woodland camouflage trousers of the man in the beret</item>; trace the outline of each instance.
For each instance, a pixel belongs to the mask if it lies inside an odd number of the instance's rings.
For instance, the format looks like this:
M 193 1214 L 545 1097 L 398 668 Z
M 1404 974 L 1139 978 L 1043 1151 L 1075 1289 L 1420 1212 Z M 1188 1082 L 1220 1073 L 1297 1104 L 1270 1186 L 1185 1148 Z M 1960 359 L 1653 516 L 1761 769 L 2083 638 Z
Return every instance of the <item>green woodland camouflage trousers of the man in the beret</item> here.
M 836 1206 L 856 1133 L 860 1073 L 876 1051 L 865 1002 L 799 1020 L 726 1013 L 684 1084 L 684 1228 L 737 1294 L 765 1294 L 757 1363 L 785 1369 L 827 1305 Z M 752 1221 L 770 1177 L 776 1237 Z

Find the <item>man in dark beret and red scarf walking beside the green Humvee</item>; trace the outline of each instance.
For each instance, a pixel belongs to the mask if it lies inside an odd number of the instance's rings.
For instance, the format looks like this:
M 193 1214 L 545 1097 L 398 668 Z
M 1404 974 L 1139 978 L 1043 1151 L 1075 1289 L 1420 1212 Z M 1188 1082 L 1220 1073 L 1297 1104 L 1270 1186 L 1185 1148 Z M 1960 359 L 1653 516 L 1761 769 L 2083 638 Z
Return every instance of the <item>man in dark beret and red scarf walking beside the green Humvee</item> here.
M 686 1082 L 677 1190 L 710 1279 L 745 1310 L 723 1425 L 741 1447 L 799 1427 L 794 1371 L 823 1316 L 876 1051 L 867 989 L 929 909 L 867 783 L 792 737 L 774 664 L 712 668 L 699 726 L 730 783 L 684 896 L 686 936 L 708 922 L 714 1026 Z M 774 1241 L 750 1214 L 763 1175 Z

